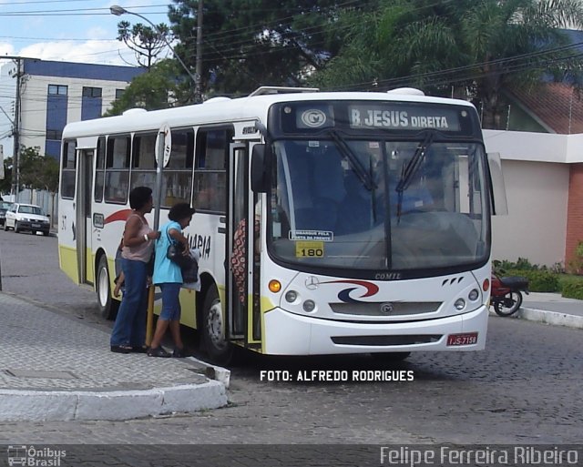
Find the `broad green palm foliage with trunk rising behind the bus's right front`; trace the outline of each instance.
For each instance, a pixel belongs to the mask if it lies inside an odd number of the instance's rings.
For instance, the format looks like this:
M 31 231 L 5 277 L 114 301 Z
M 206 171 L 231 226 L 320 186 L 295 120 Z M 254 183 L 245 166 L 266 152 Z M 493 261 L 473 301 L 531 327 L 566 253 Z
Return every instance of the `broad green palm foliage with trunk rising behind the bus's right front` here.
M 505 89 L 537 86 L 545 73 L 583 83 L 583 62 L 559 29 L 583 25 L 578 0 L 384 1 L 367 16 L 344 12 L 343 23 L 344 46 L 312 76 L 318 86 L 437 95 L 458 86 L 482 108 L 484 127 L 496 128 Z

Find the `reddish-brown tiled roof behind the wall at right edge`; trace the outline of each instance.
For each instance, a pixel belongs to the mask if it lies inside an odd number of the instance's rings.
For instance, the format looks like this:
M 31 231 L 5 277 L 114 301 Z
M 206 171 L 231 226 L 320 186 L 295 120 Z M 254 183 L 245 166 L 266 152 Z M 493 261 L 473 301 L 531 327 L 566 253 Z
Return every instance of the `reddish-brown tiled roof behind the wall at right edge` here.
M 528 113 L 555 133 L 583 133 L 583 95 L 578 96 L 573 86 L 544 83 L 529 91 L 513 89 L 511 94 Z

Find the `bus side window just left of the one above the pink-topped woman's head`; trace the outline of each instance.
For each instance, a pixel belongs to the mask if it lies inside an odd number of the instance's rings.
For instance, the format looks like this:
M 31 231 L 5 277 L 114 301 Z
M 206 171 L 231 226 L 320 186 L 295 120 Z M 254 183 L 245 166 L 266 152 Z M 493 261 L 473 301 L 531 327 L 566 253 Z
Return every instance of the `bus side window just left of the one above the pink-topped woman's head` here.
M 107 139 L 104 194 L 107 203 L 125 204 L 128 201 L 129 147 L 128 136 Z

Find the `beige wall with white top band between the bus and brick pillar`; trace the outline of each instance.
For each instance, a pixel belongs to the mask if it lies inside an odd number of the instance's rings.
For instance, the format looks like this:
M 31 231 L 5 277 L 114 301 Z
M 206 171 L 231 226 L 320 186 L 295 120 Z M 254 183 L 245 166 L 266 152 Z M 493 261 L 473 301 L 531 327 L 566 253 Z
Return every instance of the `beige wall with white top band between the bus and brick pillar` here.
M 582 161 L 583 135 L 485 130 L 484 137 L 486 151 L 502 158 L 508 201 L 508 215 L 493 218 L 493 258 L 564 263 L 569 163 Z

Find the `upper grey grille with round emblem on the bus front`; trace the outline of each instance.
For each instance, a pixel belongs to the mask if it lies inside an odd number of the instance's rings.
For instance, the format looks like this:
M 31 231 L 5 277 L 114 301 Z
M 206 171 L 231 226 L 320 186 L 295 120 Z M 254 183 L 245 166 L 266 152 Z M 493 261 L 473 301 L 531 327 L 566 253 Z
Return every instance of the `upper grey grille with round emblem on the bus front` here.
M 334 313 L 359 316 L 408 316 L 434 313 L 441 301 L 374 301 L 366 303 L 330 303 Z

